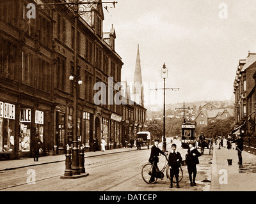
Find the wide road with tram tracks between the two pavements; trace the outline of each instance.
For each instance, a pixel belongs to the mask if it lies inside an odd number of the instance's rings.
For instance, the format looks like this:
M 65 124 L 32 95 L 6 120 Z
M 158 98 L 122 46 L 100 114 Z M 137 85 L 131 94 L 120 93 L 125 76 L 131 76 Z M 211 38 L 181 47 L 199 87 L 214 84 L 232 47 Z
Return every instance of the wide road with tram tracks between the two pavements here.
M 185 159 L 187 149 L 178 151 Z M 170 152 L 171 145 L 167 149 Z M 209 153 L 209 150 L 205 150 Z M 187 166 L 182 166 L 184 177 L 180 188 L 170 189 L 170 180 L 164 175 L 156 184 L 146 184 L 141 178 L 141 166 L 148 161 L 149 150 L 135 150 L 85 159 L 87 177 L 74 180 L 60 179 L 65 170 L 65 163 L 51 163 L 28 168 L 19 168 L 0 172 L 0 191 L 209 191 L 211 180 L 211 158 L 209 154 L 199 157 L 196 187 L 189 186 Z M 159 168 L 164 164 L 160 156 Z M 35 172 L 35 180 L 29 179 L 29 172 Z M 165 174 L 165 172 L 164 172 Z M 29 182 L 34 182 L 29 184 Z

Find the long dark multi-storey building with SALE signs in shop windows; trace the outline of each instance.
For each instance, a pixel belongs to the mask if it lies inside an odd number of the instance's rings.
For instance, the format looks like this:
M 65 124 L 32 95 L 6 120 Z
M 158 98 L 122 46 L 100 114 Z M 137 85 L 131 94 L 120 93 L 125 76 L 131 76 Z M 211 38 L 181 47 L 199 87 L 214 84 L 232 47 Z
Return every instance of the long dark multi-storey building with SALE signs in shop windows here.
M 28 18 L 27 5 L 36 2 L 0 3 L 1 159 L 31 156 L 36 134 L 45 156 L 64 154 L 72 143 L 73 82 L 68 77 L 74 69 L 74 13 L 65 5 L 42 6 L 36 7 L 35 18 Z M 120 82 L 123 65 L 115 52 L 115 29 L 103 33 L 103 20 L 100 4 L 78 20 L 77 62 L 83 84 L 78 91 L 77 136 L 86 147 L 94 136 L 107 143 L 122 141 L 122 107 L 93 101 L 94 84 L 110 88 Z M 107 101 L 117 92 L 106 94 Z

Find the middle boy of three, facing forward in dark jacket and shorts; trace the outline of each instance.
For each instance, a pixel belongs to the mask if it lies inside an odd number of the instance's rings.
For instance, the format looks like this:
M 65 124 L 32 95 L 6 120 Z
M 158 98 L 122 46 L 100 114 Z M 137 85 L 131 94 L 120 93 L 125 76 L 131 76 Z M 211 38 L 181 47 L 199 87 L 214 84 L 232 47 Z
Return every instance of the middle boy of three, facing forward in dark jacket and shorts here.
M 177 182 L 177 188 L 179 188 L 179 167 L 180 167 L 180 162 L 182 161 L 182 157 L 180 155 L 180 152 L 177 152 L 176 150 L 177 145 L 172 144 L 172 151 L 169 154 L 169 166 L 170 166 L 170 180 L 171 184 L 170 187 L 172 188 L 172 182 L 173 182 L 173 177 L 176 178 Z

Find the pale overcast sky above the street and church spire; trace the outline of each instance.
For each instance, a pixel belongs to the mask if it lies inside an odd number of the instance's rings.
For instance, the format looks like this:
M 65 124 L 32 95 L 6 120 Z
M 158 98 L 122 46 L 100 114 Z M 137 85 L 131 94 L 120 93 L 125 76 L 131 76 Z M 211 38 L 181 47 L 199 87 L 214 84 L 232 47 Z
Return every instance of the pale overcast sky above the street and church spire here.
M 116 1 L 104 9 L 103 30 L 115 28 L 122 80 L 133 82 L 139 44 L 143 83 L 163 83 L 165 62 L 166 88 L 180 89 L 166 91 L 166 103 L 234 98 L 239 59 L 256 52 L 255 0 Z

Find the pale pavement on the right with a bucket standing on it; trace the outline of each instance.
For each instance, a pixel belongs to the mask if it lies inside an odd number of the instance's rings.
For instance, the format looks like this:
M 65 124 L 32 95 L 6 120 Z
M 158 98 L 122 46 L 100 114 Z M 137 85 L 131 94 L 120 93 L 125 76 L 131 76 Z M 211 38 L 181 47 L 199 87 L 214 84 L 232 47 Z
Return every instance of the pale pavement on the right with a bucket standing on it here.
M 237 164 L 237 150 L 214 146 L 210 191 L 256 191 L 256 156 L 246 151 L 242 156 L 243 164 Z

